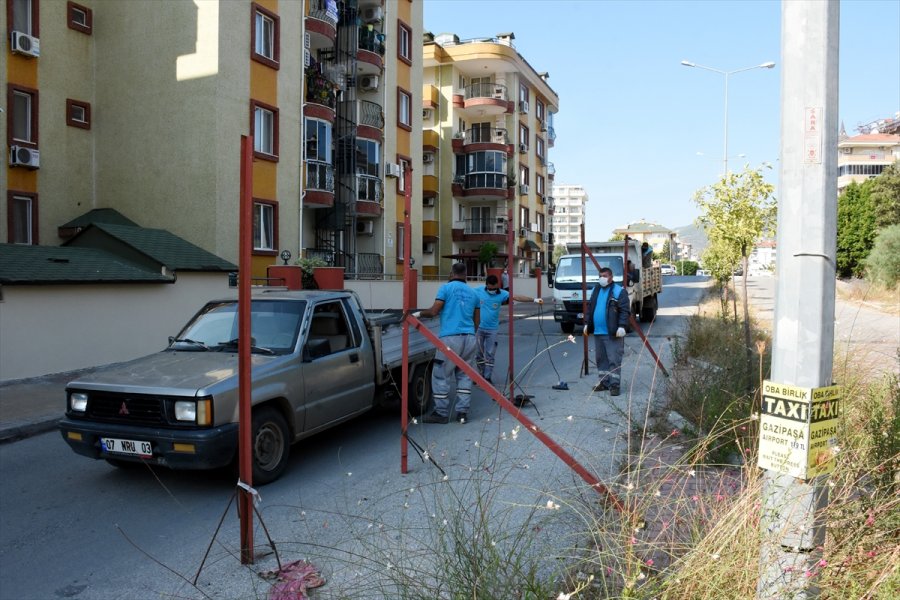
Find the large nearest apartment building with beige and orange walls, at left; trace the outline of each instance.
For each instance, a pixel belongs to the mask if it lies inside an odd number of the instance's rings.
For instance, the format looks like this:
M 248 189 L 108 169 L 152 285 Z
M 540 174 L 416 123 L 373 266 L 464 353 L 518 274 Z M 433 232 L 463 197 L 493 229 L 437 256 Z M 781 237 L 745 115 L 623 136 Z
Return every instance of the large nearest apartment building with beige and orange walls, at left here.
M 0 240 L 58 245 L 60 225 L 112 208 L 236 262 L 251 135 L 254 276 L 283 250 L 393 272 L 402 181 L 385 176 L 421 147 L 420 2 L 6 0 L 2 15 Z

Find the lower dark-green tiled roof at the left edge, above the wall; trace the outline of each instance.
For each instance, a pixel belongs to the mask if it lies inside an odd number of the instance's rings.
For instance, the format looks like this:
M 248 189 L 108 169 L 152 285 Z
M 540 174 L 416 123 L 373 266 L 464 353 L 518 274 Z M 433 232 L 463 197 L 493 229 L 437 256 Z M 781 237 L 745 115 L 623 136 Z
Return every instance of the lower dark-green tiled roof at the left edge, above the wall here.
M 174 281 L 97 248 L 0 244 L 0 284 Z

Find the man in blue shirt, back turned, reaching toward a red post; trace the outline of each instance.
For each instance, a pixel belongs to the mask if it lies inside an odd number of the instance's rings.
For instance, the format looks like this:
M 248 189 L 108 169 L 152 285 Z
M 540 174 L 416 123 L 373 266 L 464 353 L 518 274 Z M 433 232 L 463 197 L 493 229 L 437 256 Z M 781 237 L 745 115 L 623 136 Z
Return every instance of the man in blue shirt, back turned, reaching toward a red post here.
M 417 319 L 441 316 L 438 337 L 470 365 L 475 359 L 475 330 L 480 319 L 478 296 L 466 283 L 466 263 L 454 263 L 450 281 L 438 289 L 431 308 L 411 313 Z M 404 318 L 406 315 L 404 315 Z M 473 365 L 474 367 L 474 365 Z M 451 360 L 436 358 L 431 370 L 434 411 L 422 417 L 425 423 L 450 422 L 450 379 L 456 380 L 456 420 L 469 420 L 472 379 Z

